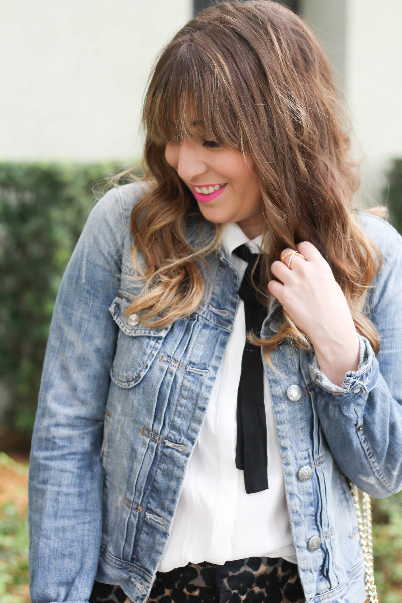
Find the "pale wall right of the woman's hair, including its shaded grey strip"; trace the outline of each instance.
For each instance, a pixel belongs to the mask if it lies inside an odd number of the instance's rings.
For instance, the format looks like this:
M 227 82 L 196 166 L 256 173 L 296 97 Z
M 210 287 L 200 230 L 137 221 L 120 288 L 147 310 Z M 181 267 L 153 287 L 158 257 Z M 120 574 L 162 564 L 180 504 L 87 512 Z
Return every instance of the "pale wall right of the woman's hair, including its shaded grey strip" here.
M 402 2 L 302 0 L 341 82 L 362 157 L 363 203 L 380 200 L 385 171 L 402 157 Z

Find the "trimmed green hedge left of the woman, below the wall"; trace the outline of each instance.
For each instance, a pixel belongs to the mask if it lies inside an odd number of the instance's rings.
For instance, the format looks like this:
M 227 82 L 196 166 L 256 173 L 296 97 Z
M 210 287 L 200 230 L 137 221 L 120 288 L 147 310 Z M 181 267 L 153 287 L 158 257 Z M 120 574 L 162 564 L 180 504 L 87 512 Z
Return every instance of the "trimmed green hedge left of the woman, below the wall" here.
M 28 441 L 61 277 L 106 178 L 128 167 L 0 164 L 0 408 Z

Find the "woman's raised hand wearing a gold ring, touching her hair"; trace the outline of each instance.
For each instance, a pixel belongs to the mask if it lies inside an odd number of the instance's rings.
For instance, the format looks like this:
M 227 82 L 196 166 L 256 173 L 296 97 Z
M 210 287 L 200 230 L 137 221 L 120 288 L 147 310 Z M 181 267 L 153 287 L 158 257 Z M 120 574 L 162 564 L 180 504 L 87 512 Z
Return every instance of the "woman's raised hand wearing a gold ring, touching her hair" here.
M 289 251 L 295 250 L 284 249 L 281 258 Z M 328 379 L 330 373 L 342 384 L 341 376 L 359 365 L 359 337 L 353 317 L 330 265 L 318 249 L 302 241 L 297 251 L 306 259 L 294 256 L 291 268 L 287 267 L 291 256 L 286 257 L 286 265 L 281 260 L 272 264 L 272 274 L 281 282 L 270 280 L 268 291 L 309 338 Z

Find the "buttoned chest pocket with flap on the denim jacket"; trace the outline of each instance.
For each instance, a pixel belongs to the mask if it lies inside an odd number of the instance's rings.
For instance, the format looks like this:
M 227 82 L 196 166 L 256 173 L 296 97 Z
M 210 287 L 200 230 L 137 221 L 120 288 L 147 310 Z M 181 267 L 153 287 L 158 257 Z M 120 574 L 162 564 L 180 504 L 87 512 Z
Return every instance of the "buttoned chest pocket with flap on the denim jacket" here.
M 137 385 L 148 371 L 162 346 L 171 324 L 163 329 L 136 324 L 136 315 L 124 316 L 130 300 L 118 295 L 108 310 L 119 326 L 115 357 L 110 378 L 119 387 L 128 389 Z

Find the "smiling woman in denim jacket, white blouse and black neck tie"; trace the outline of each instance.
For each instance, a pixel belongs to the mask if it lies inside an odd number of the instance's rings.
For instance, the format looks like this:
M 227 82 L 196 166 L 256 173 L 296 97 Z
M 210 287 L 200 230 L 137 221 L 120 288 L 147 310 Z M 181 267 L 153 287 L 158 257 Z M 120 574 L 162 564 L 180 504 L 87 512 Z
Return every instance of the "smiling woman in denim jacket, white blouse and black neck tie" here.
M 402 488 L 402 237 L 353 207 L 341 115 L 277 2 L 161 52 L 145 177 L 93 207 L 55 303 L 33 603 L 365 600 L 348 479 Z

